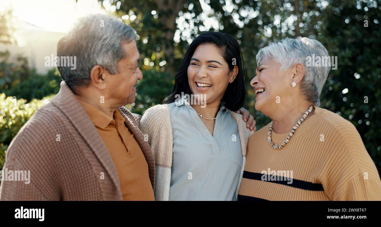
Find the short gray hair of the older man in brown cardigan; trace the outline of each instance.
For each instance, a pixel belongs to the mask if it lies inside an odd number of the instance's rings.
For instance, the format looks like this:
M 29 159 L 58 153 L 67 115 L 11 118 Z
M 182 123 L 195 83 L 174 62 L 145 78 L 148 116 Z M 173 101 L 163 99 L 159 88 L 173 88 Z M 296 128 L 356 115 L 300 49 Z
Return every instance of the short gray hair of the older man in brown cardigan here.
M 57 44 L 57 56 L 76 56 L 76 68 L 58 66 L 67 86 L 87 86 L 91 69 L 100 65 L 111 74 L 118 73 L 118 62 L 125 58 L 123 42 L 139 36 L 122 21 L 104 14 L 89 14 L 79 18 L 72 30 Z

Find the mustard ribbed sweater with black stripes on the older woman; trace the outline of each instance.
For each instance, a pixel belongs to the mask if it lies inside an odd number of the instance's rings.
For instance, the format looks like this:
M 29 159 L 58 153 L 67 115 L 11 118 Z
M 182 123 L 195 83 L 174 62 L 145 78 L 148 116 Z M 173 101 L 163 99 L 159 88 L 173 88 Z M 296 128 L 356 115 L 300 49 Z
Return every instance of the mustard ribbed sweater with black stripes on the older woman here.
M 376 166 L 352 123 L 315 107 L 280 150 L 268 142 L 269 125 L 248 141 L 238 200 L 381 200 Z M 272 140 L 287 135 L 273 131 Z

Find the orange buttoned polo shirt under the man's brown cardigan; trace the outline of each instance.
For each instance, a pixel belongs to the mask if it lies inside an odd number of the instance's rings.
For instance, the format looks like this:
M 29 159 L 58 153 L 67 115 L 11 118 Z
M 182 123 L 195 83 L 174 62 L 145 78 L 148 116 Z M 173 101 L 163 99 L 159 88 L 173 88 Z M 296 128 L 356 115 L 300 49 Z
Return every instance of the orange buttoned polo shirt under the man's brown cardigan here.
M 78 99 L 78 97 L 77 97 Z M 114 118 L 82 102 L 114 161 L 123 200 L 155 200 L 144 154 L 118 110 Z

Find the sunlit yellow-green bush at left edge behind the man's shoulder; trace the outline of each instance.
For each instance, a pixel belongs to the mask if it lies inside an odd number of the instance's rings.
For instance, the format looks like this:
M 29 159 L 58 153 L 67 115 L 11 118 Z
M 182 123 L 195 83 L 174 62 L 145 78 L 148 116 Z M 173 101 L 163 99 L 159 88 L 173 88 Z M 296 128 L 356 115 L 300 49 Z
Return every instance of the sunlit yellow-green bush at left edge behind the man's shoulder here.
M 45 99 L 14 99 L 0 93 L 0 169 L 3 168 L 5 151 L 12 139 L 30 117 L 54 95 Z

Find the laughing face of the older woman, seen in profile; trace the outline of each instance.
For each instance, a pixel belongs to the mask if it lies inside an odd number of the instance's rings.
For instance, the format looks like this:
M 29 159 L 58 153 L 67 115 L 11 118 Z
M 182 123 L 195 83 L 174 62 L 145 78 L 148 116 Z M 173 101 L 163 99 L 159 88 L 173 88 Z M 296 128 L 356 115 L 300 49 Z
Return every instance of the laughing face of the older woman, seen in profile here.
M 265 115 L 290 102 L 292 70 L 287 69 L 280 73 L 281 66 L 280 63 L 264 56 L 256 69 L 256 76 L 250 82 L 255 88 L 255 109 Z

